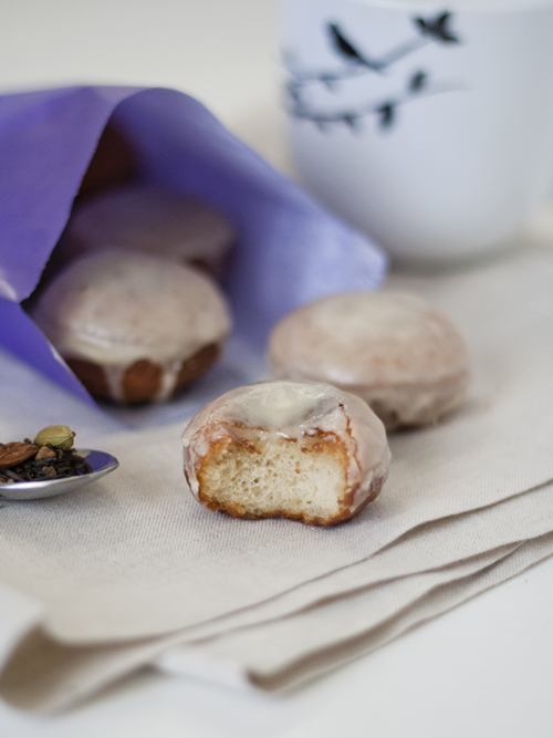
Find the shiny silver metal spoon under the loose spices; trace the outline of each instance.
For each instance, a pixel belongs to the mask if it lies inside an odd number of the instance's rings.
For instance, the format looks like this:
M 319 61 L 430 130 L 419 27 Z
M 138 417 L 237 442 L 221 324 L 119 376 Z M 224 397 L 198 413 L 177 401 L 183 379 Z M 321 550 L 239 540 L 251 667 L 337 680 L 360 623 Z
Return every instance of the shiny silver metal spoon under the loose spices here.
M 86 458 L 93 469 L 91 472 L 83 474 L 80 477 L 60 477 L 59 479 L 14 481 L 11 485 L 0 485 L 0 498 L 4 500 L 40 500 L 43 497 L 65 495 L 90 485 L 91 481 L 96 481 L 119 466 L 115 456 L 104 451 L 81 448 L 77 454 Z

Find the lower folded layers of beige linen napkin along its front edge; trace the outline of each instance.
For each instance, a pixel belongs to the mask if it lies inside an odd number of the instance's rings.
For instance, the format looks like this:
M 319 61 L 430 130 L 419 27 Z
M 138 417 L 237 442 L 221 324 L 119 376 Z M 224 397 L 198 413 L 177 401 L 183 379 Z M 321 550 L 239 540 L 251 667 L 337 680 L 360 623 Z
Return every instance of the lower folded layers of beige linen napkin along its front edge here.
M 197 634 L 184 631 L 121 645 L 64 646 L 36 630 L 4 666 L 0 694 L 25 709 L 59 710 L 150 663 L 170 673 L 233 686 L 249 682 L 264 688 L 290 686 L 377 648 L 552 551 L 551 534 L 503 545 L 441 572 L 357 589 L 295 617 L 236 627 L 198 644 L 194 643 Z M 178 646 L 189 641 L 186 647 Z M 280 644 L 276 664 L 274 643 Z

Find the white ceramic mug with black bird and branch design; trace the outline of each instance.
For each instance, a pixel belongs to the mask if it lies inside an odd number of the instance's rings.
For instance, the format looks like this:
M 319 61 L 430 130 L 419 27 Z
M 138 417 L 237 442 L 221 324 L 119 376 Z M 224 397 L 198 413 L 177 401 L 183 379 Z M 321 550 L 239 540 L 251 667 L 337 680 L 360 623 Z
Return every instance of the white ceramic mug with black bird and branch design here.
M 284 0 L 293 156 L 398 260 L 512 243 L 553 173 L 553 0 Z

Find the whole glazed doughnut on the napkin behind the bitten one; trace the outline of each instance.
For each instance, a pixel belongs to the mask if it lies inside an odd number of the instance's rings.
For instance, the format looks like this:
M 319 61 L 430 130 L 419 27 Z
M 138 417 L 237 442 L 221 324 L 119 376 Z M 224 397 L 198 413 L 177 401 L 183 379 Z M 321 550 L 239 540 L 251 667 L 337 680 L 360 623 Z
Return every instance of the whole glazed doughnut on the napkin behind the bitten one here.
M 295 310 L 273 329 L 273 376 L 328 382 L 365 399 L 387 429 L 434 423 L 460 404 L 469 377 L 463 340 L 421 298 L 352 292 Z

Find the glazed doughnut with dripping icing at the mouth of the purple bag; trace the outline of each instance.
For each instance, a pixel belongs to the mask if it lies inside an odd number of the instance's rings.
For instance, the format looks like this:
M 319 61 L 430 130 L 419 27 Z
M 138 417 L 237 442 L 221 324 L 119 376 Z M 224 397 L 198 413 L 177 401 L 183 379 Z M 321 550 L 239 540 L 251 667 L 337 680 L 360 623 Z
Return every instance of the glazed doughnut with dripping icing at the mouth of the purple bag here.
M 209 277 L 125 251 L 74 261 L 32 314 L 92 395 L 122 403 L 170 397 L 213 363 L 230 331 Z

